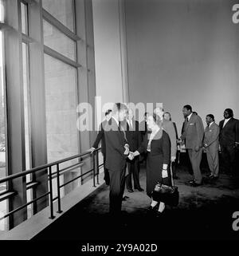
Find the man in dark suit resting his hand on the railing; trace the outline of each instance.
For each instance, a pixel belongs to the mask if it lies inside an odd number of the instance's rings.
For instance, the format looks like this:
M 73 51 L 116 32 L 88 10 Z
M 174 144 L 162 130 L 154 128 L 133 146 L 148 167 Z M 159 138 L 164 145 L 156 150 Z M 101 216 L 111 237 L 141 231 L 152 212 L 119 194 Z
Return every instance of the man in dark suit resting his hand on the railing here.
M 103 155 L 103 163 L 104 163 L 104 181 L 107 185 L 109 185 L 109 173 L 108 173 L 107 167 L 105 167 L 106 149 L 105 149 L 105 140 L 104 140 L 104 128 L 105 128 L 105 125 L 108 123 L 108 120 L 110 120 L 111 118 L 112 118 L 112 109 L 108 109 L 108 111 L 105 112 L 105 120 L 100 124 L 99 132 L 97 134 L 96 140 L 92 148 L 89 149 L 90 152 L 94 152 L 94 150 L 98 148 L 101 141 L 101 152 Z

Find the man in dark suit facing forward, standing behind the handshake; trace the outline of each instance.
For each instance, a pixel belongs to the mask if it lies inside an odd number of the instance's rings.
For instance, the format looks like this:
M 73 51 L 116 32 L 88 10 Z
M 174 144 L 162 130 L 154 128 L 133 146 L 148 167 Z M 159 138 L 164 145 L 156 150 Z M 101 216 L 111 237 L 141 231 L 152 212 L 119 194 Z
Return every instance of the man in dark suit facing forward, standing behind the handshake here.
M 132 109 L 127 110 L 126 121 L 126 138 L 131 149 L 131 152 L 135 152 L 141 143 L 141 133 L 139 132 L 139 122 L 134 120 L 134 113 Z M 133 160 L 127 160 L 128 175 L 126 177 L 127 191 L 133 192 L 132 179 L 134 179 L 134 188 L 138 191 L 143 191 L 139 183 L 139 157 L 135 157 Z

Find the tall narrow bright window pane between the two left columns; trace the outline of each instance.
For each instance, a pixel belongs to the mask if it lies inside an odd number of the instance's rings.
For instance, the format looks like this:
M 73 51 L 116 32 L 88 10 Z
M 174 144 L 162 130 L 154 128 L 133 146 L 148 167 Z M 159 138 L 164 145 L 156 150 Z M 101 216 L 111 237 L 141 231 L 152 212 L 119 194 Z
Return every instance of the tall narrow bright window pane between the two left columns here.
M 23 67 L 23 99 L 24 99 L 24 122 L 25 122 L 25 169 L 29 170 L 31 164 L 31 136 L 30 136 L 30 120 L 29 120 L 29 46 L 22 43 L 22 67 Z M 31 181 L 31 175 L 26 175 L 26 182 Z M 32 189 L 27 190 L 27 202 L 32 199 Z M 32 205 L 28 207 L 28 218 L 32 216 Z

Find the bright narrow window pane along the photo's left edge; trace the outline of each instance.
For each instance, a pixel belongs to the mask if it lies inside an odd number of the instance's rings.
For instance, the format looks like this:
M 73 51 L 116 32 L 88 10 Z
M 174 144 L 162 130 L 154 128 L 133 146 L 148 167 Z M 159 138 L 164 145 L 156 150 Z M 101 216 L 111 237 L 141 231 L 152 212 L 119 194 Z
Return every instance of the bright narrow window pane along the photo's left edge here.
M 4 87 L 3 69 L 3 35 L 0 30 L 0 179 L 7 175 L 6 172 L 6 99 Z M 0 193 L 6 191 L 6 183 L 0 183 Z M 0 202 L 0 232 L 6 230 L 7 219 L 1 219 L 6 215 L 7 200 Z

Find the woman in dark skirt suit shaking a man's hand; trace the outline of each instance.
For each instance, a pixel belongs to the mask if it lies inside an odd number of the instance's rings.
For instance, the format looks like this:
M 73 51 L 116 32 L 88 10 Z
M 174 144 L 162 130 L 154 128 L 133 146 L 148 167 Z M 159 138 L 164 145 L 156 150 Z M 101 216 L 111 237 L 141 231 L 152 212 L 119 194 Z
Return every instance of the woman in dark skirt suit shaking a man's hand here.
M 149 133 L 144 136 L 143 143 L 137 151 L 133 153 L 138 156 L 143 152 L 147 153 L 147 195 L 151 198 L 155 185 L 159 182 L 170 186 L 170 138 L 167 132 L 163 131 L 162 122 L 155 113 L 147 120 Z M 156 208 L 159 203 L 159 208 Z M 156 216 L 160 216 L 165 208 L 165 203 L 151 199 L 150 211 L 156 211 Z

